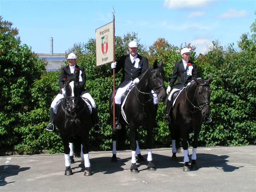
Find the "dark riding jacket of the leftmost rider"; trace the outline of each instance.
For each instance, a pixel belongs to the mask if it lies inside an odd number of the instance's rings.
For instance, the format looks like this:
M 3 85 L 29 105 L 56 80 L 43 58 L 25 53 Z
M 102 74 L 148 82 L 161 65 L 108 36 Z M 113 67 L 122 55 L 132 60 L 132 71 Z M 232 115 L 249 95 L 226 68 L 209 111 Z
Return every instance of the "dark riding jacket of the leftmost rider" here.
M 81 74 L 81 76 L 82 76 L 82 81 L 79 82 L 79 92 L 81 93 L 81 92 L 83 92 L 83 91 L 86 91 L 85 88 L 84 88 L 85 83 L 86 83 L 86 75 L 85 75 L 85 71 L 84 71 L 84 67 L 83 67 L 83 66 L 78 66 L 78 65 L 76 64 L 76 68 L 75 68 L 74 73 L 77 71 L 76 69 L 79 69 L 79 70 L 82 72 L 82 74 Z M 66 66 L 66 67 L 64 67 L 64 68 L 62 68 L 62 71 L 61 71 L 60 77 L 59 77 L 59 87 L 60 87 L 60 92 L 59 92 L 59 94 L 62 94 L 62 90 L 61 90 L 61 89 L 64 87 L 65 79 L 66 79 L 66 78 L 68 77 L 68 75 L 70 75 L 70 74 L 71 74 L 71 72 L 70 72 L 70 67 L 69 67 L 69 65 Z

